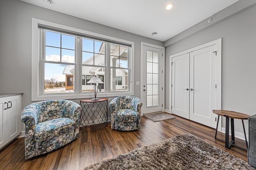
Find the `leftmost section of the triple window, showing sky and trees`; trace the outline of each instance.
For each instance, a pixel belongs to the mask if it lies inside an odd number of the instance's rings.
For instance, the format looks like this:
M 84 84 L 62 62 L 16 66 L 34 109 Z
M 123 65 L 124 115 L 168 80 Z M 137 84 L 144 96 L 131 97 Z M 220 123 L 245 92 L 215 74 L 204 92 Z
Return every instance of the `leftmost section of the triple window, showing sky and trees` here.
M 74 92 L 75 37 L 53 31 L 43 34 L 44 94 Z M 54 85 L 60 83 L 65 83 L 66 87 Z

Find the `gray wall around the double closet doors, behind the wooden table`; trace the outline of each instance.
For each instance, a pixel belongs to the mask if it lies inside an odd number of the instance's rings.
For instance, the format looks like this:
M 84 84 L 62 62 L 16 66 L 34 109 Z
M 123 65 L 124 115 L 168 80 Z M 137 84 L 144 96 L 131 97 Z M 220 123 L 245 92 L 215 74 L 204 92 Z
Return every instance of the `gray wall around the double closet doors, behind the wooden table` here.
M 250 6 L 166 47 L 166 109 L 170 108 L 170 55 L 222 38 L 222 109 L 256 114 L 255 16 L 256 6 Z M 246 130 L 247 126 L 245 121 Z M 235 120 L 235 131 L 243 133 L 240 120 Z

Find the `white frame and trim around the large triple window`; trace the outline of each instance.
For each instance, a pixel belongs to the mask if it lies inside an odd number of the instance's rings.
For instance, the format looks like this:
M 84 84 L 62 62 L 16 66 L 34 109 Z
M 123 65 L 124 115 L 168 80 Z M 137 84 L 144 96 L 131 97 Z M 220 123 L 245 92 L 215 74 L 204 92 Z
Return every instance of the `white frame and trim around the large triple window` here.
M 124 39 L 119 39 L 116 37 L 110 37 L 108 35 L 102 35 L 99 33 L 94 33 L 90 31 L 86 31 L 83 29 L 78 29 L 74 27 L 69 27 L 66 25 L 61 25 L 58 23 L 53 23 L 49 21 L 44 21 L 44 20 L 39 20 L 36 18 L 32 18 L 32 88 L 31 88 L 31 100 L 32 101 L 40 101 L 40 100 L 54 100 L 54 99 L 82 99 L 82 98 L 94 98 L 94 93 L 82 93 L 81 88 L 82 88 L 82 74 L 81 73 L 81 68 L 79 65 L 79 61 L 76 61 L 75 64 L 76 66 L 76 75 L 79 75 L 80 77 L 78 78 L 79 80 L 75 80 L 77 83 L 75 84 L 75 93 L 64 93 L 64 94 L 42 94 L 40 91 L 40 88 L 42 88 L 42 85 L 40 86 L 40 83 L 42 84 L 42 70 L 40 70 L 40 56 L 42 56 L 42 51 L 40 48 L 40 31 L 38 28 L 38 24 L 41 25 L 47 25 L 49 27 L 56 27 L 59 29 L 64 29 L 64 30 L 69 30 L 77 33 L 81 33 L 84 35 L 89 35 L 93 37 L 99 37 L 102 39 L 108 39 L 110 41 L 114 42 L 120 42 L 124 44 L 129 44 L 131 45 L 131 53 L 130 53 L 130 67 L 129 67 L 129 74 L 130 74 L 130 91 L 125 92 L 125 91 L 120 91 L 120 92 L 98 92 L 97 97 L 102 98 L 102 97 L 115 97 L 115 96 L 122 96 L 122 95 L 134 95 L 134 42 L 132 41 L 127 41 Z M 108 57 L 106 57 L 106 63 L 108 63 Z M 110 67 L 108 67 L 110 68 Z M 109 70 L 110 73 L 110 70 Z M 110 74 L 108 71 L 105 72 L 105 80 L 106 82 L 104 83 L 104 86 L 107 87 L 108 89 L 110 88 Z M 40 76 L 41 74 L 41 76 Z M 76 75 L 74 75 L 76 77 Z M 75 78 L 76 79 L 76 78 Z

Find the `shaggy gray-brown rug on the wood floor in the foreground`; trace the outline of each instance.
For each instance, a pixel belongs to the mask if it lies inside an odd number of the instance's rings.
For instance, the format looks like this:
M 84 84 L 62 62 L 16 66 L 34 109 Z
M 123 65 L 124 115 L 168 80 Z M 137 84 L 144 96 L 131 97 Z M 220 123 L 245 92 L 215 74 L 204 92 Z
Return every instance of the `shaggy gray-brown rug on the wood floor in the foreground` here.
M 84 170 L 255 170 L 189 133 L 92 164 Z

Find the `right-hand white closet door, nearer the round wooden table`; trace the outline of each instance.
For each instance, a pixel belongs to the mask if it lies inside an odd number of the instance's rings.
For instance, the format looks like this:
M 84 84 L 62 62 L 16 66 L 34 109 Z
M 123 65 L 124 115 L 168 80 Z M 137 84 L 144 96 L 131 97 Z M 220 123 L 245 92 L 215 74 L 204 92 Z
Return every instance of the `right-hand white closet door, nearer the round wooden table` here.
M 216 46 L 190 53 L 190 120 L 215 128 Z

